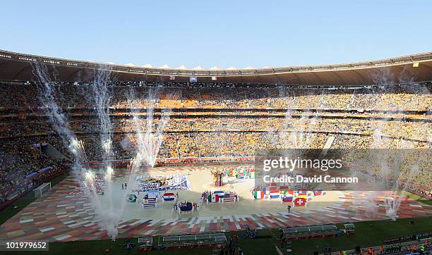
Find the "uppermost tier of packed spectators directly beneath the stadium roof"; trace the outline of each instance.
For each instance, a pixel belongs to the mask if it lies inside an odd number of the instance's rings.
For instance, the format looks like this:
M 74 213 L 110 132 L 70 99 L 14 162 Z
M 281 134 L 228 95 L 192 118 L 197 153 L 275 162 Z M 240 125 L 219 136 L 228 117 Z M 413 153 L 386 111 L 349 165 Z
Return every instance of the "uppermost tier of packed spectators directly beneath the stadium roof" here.
M 40 106 L 37 97 L 23 95 L 37 94 L 37 86 L 1 83 L 0 107 L 14 109 L 35 109 Z M 111 87 L 113 108 L 128 108 L 130 86 Z M 149 105 L 149 89 L 136 87 L 133 106 L 145 108 Z M 375 109 L 381 111 L 428 111 L 431 85 L 386 85 L 354 88 L 211 88 L 211 87 L 158 87 L 159 97 L 152 99 L 155 108 L 300 108 L 300 109 Z M 92 108 L 87 95 L 89 85 L 61 85 L 56 93 L 63 108 Z M 174 93 L 176 92 L 176 93 Z M 176 99 L 169 93 L 176 94 Z M 7 96 L 7 97 L 6 97 Z

